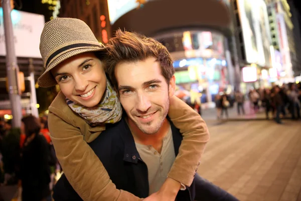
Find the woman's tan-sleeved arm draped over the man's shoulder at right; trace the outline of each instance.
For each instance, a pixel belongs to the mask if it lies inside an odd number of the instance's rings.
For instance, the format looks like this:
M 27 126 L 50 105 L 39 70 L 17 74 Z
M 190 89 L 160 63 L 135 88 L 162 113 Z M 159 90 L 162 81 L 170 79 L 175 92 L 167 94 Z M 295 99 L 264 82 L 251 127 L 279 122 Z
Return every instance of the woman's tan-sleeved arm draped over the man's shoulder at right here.
M 190 186 L 209 141 L 209 131 L 201 116 L 175 95 L 170 99 L 168 115 L 183 135 L 179 154 L 168 176 Z

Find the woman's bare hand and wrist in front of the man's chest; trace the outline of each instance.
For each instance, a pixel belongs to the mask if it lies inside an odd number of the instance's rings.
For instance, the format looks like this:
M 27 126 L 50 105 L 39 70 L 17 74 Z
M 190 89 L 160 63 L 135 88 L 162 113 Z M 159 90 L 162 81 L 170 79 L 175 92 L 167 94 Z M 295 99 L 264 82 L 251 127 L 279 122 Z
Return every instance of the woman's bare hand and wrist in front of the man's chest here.
M 143 201 L 175 201 L 178 191 L 181 188 L 181 183 L 168 177 L 158 192 L 155 192 Z

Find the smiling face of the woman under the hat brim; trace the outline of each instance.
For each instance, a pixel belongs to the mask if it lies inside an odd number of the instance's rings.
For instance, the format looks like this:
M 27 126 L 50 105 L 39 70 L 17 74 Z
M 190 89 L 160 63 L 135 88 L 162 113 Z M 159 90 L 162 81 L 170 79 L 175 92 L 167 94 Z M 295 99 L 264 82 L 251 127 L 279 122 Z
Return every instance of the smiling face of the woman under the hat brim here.
M 103 64 L 93 52 L 70 57 L 51 73 L 64 95 L 85 107 L 96 106 L 106 89 Z

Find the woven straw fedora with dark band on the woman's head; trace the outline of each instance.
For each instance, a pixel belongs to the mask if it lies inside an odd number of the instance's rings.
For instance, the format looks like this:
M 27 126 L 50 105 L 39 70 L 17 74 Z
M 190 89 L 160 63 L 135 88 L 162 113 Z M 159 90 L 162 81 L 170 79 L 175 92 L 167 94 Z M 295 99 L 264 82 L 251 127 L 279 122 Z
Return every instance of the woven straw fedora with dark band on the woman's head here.
M 45 72 L 39 77 L 41 87 L 57 84 L 50 70 L 60 62 L 74 55 L 105 51 L 102 43 L 95 38 L 89 26 L 79 19 L 56 18 L 47 22 L 41 34 L 40 53 Z

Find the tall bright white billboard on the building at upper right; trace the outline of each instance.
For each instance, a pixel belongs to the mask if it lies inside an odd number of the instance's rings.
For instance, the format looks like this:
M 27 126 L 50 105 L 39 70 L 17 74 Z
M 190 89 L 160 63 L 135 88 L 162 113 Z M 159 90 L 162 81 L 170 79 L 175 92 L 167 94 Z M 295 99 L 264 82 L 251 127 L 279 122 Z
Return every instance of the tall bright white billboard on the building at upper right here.
M 238 11 L 243 32 L 246 61 L 271 66 L 270 31 L 263 0 L 239 0 Z

